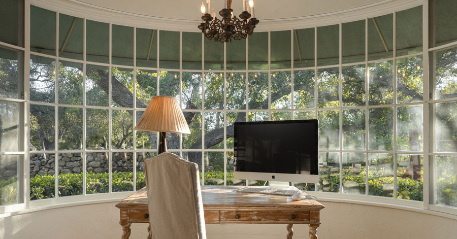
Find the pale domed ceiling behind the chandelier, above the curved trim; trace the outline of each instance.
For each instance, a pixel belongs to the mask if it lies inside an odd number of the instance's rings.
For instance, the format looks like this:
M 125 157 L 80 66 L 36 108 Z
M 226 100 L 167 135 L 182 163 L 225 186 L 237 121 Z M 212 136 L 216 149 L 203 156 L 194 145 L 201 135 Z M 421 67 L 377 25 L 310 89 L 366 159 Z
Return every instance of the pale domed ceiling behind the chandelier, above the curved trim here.
M 206 0 L 70 0 L 130 14 L 178 20 L 199 20 L 200 6 Z M 225 0 L 212 0 L 216 13 Z M 320 14 L 341 12 L 393 0 L 254 0 L 255 17 L 261 20 L 287 20 Z M 242 0 L 233 0 L 236 15 L 242 11 Z

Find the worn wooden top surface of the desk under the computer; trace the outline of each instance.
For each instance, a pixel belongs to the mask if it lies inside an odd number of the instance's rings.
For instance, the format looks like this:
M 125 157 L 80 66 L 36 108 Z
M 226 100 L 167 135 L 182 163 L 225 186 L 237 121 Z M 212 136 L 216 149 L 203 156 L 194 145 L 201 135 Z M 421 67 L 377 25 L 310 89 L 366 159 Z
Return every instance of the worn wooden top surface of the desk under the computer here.
M 263 209 L 263 210 L 321 210 L 324 208 L 316 200 L 293 201 L 290 196 L 237 192 L 241 186 L 202 186 L 203 207 L 205 209 Z M 122 208 L 147 208 L 146 188 L 142 188 L 116 204 Z

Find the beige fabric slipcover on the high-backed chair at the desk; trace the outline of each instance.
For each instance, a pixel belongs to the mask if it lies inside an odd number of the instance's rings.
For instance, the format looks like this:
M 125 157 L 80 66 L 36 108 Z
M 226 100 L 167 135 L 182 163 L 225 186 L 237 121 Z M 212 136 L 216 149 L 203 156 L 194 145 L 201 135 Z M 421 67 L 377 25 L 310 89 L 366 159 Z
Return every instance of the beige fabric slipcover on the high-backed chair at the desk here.
M 172 153 L 145 160 L 154 239 L 206 239 L 199 168 Z

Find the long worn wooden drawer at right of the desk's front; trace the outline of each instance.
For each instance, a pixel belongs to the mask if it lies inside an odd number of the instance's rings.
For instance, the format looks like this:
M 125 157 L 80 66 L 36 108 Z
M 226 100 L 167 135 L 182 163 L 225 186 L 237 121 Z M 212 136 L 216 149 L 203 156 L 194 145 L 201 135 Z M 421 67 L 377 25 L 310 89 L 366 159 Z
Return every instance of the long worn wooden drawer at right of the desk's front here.
M 309 223 L 309 212 L 220 211 L 220 223 Z

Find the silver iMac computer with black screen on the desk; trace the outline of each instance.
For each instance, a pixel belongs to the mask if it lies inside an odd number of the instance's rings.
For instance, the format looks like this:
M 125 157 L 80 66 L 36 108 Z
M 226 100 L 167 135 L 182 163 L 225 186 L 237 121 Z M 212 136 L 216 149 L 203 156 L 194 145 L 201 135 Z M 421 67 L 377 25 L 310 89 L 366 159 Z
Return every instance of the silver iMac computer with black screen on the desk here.
M 276 188 L 272 181 L 317 183 L 318 124 L 316 119 L 235 122 L 234 178 L 268 180 Z

